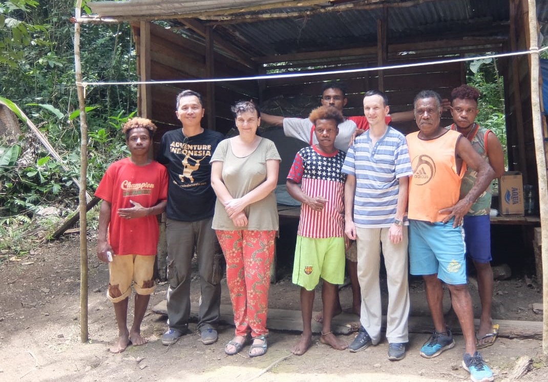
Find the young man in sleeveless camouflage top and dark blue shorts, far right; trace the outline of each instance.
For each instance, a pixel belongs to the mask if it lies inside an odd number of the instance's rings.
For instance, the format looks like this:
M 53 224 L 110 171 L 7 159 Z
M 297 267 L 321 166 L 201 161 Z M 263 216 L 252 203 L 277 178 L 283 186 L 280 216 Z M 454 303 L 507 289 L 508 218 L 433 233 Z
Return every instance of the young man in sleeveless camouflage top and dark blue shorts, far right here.
M 470 141 L 474 150 L 495 170 L 495 178 L 504 173 L 504 151 L 496 135 L 476 123 L 479 113 L 479 90 L 470 85 L 461 85 L 451 92 L 451 115 L 453 124 L 447 127 L 463 134 Z M 463 197 L 472 188 L 477 172 L 468 168 L 460 186 Z M 466 252 L 476 267 L 479 299 L 481 300 L 481 316 L 476 333 L 477 349 L 492 345 L 498 334 L 498 325 L 493 325 L 491 319 L 491 303 L 493 301 L 493 270 L 491 269 L 491 224 L 489 212 L 491 207 L 491 186 L 485 190 L 472 204 L 464 216 L 463 228 L 466 242 Z

